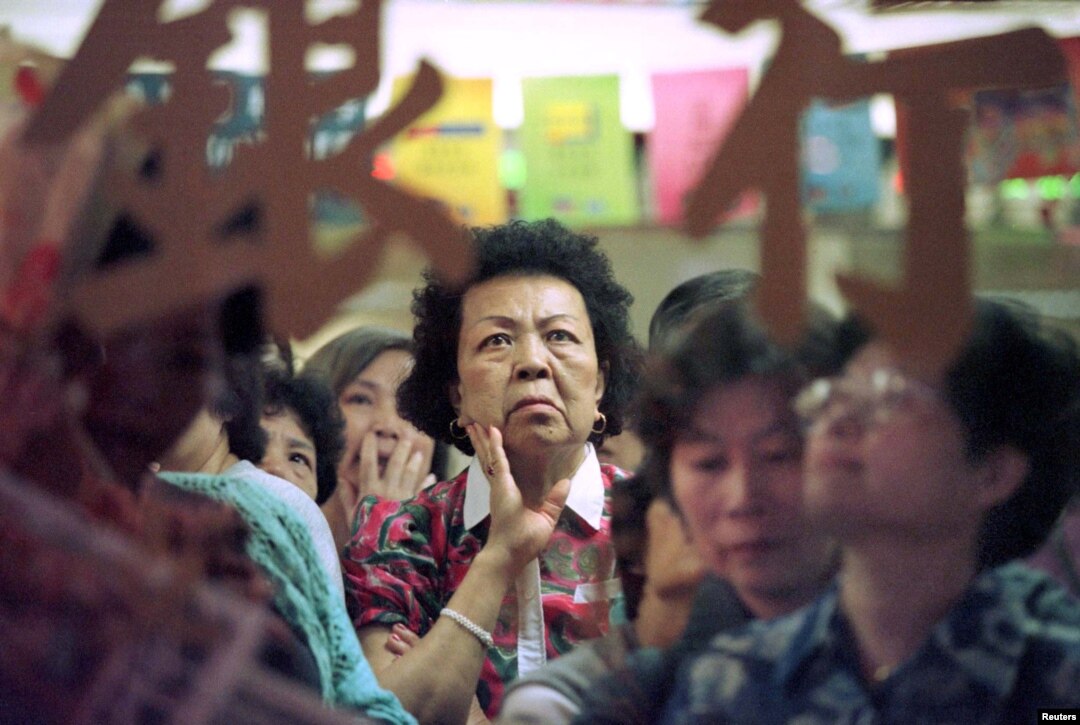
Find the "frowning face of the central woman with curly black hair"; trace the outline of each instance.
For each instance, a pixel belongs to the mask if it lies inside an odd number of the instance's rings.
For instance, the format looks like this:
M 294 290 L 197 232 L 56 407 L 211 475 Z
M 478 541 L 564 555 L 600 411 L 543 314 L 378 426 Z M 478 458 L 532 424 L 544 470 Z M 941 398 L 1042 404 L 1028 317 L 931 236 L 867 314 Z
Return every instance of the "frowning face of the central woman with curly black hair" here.
M 514 452 L 567 451 L 589 439 L 604 395 L 581 293 L 555 277 L 498 277 L 461 304 L 459 422 L 495 426 Z

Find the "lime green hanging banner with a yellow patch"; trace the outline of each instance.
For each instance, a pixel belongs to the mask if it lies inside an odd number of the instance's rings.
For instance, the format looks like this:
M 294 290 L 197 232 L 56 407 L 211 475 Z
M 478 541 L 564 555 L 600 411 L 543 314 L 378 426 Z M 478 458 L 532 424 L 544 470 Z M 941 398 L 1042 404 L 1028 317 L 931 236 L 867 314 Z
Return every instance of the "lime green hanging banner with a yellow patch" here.
M 619 78 L 528 78 L 522 94 L 521 216 L 571 226 L 636 224 L 634 143 L 619 119 Z

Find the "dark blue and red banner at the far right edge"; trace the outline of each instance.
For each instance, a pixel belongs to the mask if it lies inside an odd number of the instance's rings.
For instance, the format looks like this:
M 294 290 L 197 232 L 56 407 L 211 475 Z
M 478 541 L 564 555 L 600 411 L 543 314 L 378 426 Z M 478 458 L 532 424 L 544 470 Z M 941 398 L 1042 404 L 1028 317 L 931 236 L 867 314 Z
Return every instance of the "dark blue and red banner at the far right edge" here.
M 1080 171 L 1076 96 L 1067 83 L 1049 89 L 980 91 L 968 133 L 974 183 L 1037 178 Z

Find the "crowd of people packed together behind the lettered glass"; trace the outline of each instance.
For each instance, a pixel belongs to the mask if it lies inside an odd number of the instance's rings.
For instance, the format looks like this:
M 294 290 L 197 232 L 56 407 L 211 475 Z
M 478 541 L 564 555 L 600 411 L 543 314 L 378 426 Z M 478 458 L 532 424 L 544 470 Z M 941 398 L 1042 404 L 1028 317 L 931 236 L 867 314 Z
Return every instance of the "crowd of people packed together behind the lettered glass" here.
M 813 308 L 782 345 L 758 277 L 718 270 L 671 292 L 646 350 L 595 238 L 471 232 L 472 276 L 426 276 L 410 332 L 353 330 L 300 364 L 266 344 L 257 288 L 95 337 L 50 310 L 150 232 L 60 240 L 32 314 L 0 278 L 4 485 L 258 609 L 259 666 L 356 719 L 1080 708 L 1075 339 L 981 298 L 928 375 L 858 312 Z M 33 252 L 6 239 L 4 264 Z M 94 647 L 168 631 L 178 590 L 35 639 L 21 622 L 93 610 L 86 582 L 109 573 L 30 581 L 25 525 L 0 538 L 0 721 L 68 722 L 105 669 Z

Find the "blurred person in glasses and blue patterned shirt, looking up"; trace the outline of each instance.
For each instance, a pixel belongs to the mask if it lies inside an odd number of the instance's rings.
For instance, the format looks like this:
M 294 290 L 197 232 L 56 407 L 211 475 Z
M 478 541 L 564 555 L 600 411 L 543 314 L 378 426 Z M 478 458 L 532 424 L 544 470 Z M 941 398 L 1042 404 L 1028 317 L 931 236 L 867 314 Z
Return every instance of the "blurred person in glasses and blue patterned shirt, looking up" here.
M 1080 479 L 1080 359 L 1027 310 L 976 304 L 934 379 L 887 344 L 798 399 L 806 508 L 840 541 L 810 606 L 716 637 L 666 722 L 1037 722 L 1080 707 L 1080 602 L 1014 562 Z

